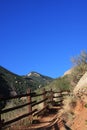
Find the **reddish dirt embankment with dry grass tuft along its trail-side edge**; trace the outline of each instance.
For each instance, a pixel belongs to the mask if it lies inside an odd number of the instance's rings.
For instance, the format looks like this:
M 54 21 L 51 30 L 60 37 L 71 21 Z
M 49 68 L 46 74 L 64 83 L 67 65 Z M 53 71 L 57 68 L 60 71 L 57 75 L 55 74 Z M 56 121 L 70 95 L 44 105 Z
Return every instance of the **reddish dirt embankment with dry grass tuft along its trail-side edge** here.
M 87 104 L 78 100 L 71 113 L 72 117 L 70 113 L 63 116 L 66 123 L 60 130 L 87 130 Z

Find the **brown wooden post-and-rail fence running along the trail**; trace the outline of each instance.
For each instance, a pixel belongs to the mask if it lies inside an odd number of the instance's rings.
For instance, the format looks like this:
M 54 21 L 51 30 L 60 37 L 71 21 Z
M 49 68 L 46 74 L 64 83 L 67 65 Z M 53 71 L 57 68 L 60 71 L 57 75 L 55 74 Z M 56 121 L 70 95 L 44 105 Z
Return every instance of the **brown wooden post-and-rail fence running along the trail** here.
M 30 120 L 33 120 L 34 116 L 40 115 L 43 111 L 45 111 L 45 109 L 49 105 L 54 105 L 54 103 L 56 103 L 54 100 L 61 99 L 58 101 L 57 105 L 62 106 L 62 101 L 63 101 L 64 95 L 67 95 L 67 92 L 65 92 L 65 93 L 62 91 L 53 92 L 52 89 L 50 91 L 46 91 L 45 89 L 43 89 L 42 93 L 37 94 L 35 92 L 31 92 L 31 90 L 28 89 L 26 94 L 17 95 L 17 96 L 8 97 L 8 98 L 1 98 L 0 101 L 8 101 L 8 100 L 12 100 L 12 99 L 27 97 L 28 102 L 24 103 L 22 105 L 19 105 L 19 106 L 0 110 L 0 130 L 2 130 L 3 128 L 5 128 L 7 126 L 12 125 L 12 123 L 15 123 L 26 117 L 29 117 L 29 119 L 31 118 Z M 36 97 L 38 97 L 38 96 L 42 97 L 40 101 L 36 100 L 37 99 Z M 35 98 L 35 100 L 33 100 L 33 98 Z M 43 103 L 43 107 L 40 110 L 38 110 L 38 105 L 41 103 Z M 37 105 L 37 108 L 35 107 L 36 105 Z M 23 108 L 25 106 L 28 107 L 27 113 L 20 115 L 9 121 L 5 121 L 4 119 L 1 118 L 2 114 L 14 111 L 16 109 Z

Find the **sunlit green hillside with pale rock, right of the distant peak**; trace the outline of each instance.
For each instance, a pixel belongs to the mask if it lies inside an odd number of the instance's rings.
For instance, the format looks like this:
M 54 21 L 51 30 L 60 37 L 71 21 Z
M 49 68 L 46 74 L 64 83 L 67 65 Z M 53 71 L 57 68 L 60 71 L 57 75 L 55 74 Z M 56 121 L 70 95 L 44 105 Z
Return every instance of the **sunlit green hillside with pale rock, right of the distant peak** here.
M 52 88 L 55 91 L 59 90 L 70 90 L 73 91 L 75 88 L 75 90 L 77 89 L 82 89 L 83 87 L 86 87 L 87 84 L 85 85 L 85 83 L 87 83 L 87 73 L 85 74 L 85 80 L 84 77 L 83 79 L 80 81 L 80 79 L 82 78 L 82 76 L 84 75 L 85 72 L 87 72 L 84 69 L 84 73 L 83 73 L 83 69 L 84 66 L 75 66 L 69 70 L 67 70 L 66 72 L 64 72 L 64 75 L 56 78 L 53 80 L 53 82 L 51 82 L 50 84 L 48 84 L 46 86 L 46 89 Z M 80 81 L 80 83 L 79 83 Z M 83 86 L 84 84 L 84 86 Z M 87 87 L 86 87 L 87 88 Z

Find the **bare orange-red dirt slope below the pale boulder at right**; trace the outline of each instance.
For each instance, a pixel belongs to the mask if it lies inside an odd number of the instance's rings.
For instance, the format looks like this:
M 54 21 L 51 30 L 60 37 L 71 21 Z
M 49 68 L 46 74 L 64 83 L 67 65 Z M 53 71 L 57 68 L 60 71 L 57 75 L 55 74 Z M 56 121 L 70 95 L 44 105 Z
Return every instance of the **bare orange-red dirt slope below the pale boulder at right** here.
M 68 120 L 66 123 L 69 125 L 70 130 L 87 130 L 87 108 L 85 107 L 85 103 L 78 101 L 73 113 L 74 119 L 71 121 Z M 60 130 L 63 130 L 63 128 Z

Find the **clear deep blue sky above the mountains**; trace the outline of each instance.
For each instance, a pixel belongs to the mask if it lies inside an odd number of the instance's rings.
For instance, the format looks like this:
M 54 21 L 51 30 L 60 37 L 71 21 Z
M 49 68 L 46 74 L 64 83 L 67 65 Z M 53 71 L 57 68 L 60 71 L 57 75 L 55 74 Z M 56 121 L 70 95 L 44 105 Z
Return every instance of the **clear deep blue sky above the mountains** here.
M 87 51 L 87 0 L 0 0 L 0 65 L 62 76 Z

